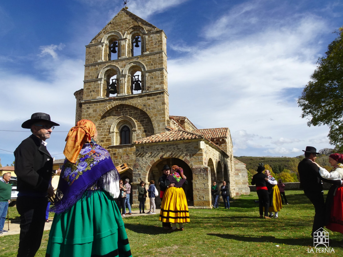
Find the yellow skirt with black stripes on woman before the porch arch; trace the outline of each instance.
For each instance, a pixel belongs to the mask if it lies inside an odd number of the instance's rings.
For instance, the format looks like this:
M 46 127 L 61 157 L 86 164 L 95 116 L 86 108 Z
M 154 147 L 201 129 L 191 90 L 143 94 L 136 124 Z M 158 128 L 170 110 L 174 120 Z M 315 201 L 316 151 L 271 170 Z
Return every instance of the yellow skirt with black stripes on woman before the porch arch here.
M 189 212 L 184 189 L 169 187 L 164 193 L 159 221 L 170 223 L 189 222 Z

